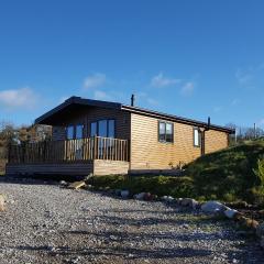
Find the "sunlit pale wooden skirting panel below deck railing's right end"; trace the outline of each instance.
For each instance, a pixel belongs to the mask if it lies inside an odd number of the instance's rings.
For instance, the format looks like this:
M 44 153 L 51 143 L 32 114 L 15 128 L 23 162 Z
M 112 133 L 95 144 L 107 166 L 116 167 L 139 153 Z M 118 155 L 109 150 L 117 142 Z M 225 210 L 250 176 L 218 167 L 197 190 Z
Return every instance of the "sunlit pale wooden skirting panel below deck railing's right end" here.
M 128 174 L 128 170 L 129 162 L 102 161 L 102 160 L 94 161 L 94 175 L 97 176 Z

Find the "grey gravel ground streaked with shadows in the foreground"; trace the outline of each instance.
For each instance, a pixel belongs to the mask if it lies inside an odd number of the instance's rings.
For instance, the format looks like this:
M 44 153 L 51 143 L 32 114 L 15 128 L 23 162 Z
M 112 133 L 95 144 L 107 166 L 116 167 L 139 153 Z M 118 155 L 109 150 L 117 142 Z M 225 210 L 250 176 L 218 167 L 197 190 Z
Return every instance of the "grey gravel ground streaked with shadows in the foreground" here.
M 256 242 L 163 202 L 28 180 L 0 182 L 0 264 L 264 263 Z

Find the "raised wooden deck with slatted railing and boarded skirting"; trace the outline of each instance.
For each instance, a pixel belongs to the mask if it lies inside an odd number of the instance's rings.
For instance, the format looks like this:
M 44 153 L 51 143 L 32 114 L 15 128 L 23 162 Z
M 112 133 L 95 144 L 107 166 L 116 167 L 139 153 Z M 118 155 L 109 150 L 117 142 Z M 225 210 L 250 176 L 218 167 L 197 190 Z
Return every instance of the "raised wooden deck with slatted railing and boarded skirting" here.
M 129 142 L 87 138 L 11 145 L 8 175 L 110 175 L 128 174 Z

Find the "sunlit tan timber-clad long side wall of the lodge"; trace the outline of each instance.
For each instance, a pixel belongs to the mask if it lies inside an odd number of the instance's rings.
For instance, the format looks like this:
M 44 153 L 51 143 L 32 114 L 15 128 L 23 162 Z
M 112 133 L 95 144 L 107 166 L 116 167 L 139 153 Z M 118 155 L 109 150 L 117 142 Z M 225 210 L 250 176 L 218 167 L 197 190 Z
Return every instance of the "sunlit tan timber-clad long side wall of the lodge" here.
M 189 163 L 200 156 L 194 146 L 194 127 L 174 122 L 174 143 L 158 142 L 158 119 L 131 114 L 130 169 L 168 169 L 179 163 Z M 207 153 L 228 146 L 224 132 L 206 132 Z

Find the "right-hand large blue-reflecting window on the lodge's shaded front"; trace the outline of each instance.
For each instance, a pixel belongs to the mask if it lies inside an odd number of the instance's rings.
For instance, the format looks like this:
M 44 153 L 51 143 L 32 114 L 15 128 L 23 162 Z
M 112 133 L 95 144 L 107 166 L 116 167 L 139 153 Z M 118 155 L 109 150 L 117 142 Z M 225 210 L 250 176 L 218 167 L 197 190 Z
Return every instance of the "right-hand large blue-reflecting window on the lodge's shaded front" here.
M 90 136 L 114 138 L 114 120 L 105 119 L 90 123 Z

